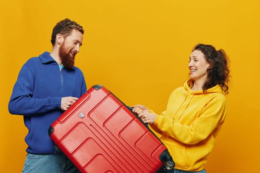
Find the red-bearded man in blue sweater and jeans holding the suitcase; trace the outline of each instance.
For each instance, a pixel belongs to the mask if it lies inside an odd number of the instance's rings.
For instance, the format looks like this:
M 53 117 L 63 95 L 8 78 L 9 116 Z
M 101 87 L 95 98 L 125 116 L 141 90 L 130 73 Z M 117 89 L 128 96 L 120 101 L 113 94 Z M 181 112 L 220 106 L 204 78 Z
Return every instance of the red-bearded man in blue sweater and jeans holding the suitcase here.
M 52 51 L 30 58 L 21 68 L 8 104 L 23 115 L 28 144 L 23 173 L 75 173 L 75 166 L 57 153 L 48 129 L 63 111 L 87 91 L 82 71 L 74 66 L 83 41 L 82 26 L 64 19 L 52 31 Z

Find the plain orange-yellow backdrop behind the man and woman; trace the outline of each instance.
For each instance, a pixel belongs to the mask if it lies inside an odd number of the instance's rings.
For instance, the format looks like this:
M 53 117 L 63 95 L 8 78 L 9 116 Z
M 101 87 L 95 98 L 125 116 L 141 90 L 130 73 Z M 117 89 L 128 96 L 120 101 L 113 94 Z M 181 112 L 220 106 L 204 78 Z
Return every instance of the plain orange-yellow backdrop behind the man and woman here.
M 0 173 L 22 171 L 27 129 L 7 104 L 25 61 L 51 51 L 65 17 L 85 29 L 76 57 L 87 87 L 101 84 L 127 105 L 160 113 L 188 78 L 197 43 L 231 60 L 228 115 L 208 173 L 260 173 L 260 0 L 1 0 Z

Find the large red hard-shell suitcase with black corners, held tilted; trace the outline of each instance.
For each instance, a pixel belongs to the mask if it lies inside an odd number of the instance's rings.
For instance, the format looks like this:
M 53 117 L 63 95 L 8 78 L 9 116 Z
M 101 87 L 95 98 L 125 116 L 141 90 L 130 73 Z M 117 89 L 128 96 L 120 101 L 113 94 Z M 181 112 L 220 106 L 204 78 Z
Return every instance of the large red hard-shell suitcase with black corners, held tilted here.
M 155 134 L 100 85 L 53 122 L 49 135 L 81 173 L 161 173 L 175 166 Z

